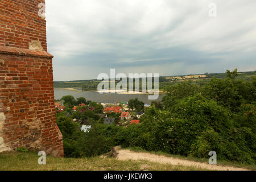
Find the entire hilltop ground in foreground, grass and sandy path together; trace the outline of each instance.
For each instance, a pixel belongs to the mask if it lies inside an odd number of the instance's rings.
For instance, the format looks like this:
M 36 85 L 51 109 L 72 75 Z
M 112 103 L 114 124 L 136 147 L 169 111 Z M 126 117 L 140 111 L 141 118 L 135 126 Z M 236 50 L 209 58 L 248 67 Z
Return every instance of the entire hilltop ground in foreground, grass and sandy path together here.
M 255 169 L 255 166 L 232 165 L 211 166 L 207 164 L 207 159 L 204 162 L 199 160 L 191 160 L 187 158 L 181 159 L 177 156 L 166 154 L 157 154 L 150 152 L 120 150 L 117 159 L 96 156 L 94 158 L 55 158 L 47 156 L 47 164 L 38 164 L 39 156 L 36 152 L 5 152 L 0 154 L 0 171 L 65 171 L 65 170 L 132 170 L 132 171 L 183 171 L 183 170 L 246 170 Z M 246 167 L 246 168 L 245 168 Z

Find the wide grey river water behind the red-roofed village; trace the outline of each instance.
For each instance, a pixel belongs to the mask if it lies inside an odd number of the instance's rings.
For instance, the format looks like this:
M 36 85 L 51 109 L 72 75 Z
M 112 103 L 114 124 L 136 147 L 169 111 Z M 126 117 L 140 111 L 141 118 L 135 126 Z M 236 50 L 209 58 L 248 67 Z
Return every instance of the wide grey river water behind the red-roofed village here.
M 59 88 L 54 88 L 55 99 L 59 100 L 63 96 L 72 95 L 75 98 L 84 97 L 86 100 L 94 102 L 104 102 L 104 103 L 118 103 L 118 102 L 128 102 L 130 99 L 138 97 L 138 100 L 143 101 L 145 104 L 151 104 L 152 100 L 148 100 L 148 95 L 142 94 L 100 94 L 95 91 L 87 92 L 75 92 L 71 90 L 63 90 Z M 161 101 L 163 94 L 159 94 L 158 100 Z

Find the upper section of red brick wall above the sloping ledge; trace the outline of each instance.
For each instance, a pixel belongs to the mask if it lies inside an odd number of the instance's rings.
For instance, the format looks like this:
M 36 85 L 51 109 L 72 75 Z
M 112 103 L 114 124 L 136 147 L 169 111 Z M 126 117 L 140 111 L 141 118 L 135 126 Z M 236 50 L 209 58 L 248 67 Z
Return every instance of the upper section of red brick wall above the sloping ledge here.
M 0 46 L 26 48 L 32 40 L 41 42 L 47 51 L 46 20 L 38 16 L 44 0 L 0 1 Z

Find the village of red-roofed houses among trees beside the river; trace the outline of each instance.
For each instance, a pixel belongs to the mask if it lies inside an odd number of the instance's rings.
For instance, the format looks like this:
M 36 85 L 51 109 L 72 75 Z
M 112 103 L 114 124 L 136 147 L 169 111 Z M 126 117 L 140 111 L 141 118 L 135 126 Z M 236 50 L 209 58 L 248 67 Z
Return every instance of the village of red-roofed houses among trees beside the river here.
M 144 104 L 143 107 L 149 106 L 148 104 Z M 140 118 L 144 114 L 144 108 L 141 111 L 135 108 L 131 109 L 129 108 L 128 102 L 113 104 L 90 102 L 86 104 L 81 103 L 69 108 L 69 105 L 64 106 L 63 102 L 60 101 L 55 102 L 55 108 L 57 113 L 66 111 L 72 117 L 73 122 L 81 123 L 81 130 L 85 132 L 89 131 L 91 127 L 89 125 L 90 118 L 94 118 L 105 125 L 128 127 L 132 124 L 139 125 L 141 123 Z M 86 116 L 87 114 L 90 116 Z M 82 117 L 82 115 L 85 115 L 85 117 Z

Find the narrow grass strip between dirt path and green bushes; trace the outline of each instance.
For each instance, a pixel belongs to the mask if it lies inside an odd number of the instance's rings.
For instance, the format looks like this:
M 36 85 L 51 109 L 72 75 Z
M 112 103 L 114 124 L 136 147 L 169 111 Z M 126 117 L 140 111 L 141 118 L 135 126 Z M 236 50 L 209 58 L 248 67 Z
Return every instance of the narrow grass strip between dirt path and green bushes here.
M 168 154 L 168 153 L 161 152 L 161 151 L 146 151 L 146 150 L 143 150 L 142 148 L 134 148 L 134 147 L 127 147 L 127 148 L 123 148 L 123 149 L 129 149 L 129 150 L 135 151 L 135 152 L 147 152 L 150 154 L 164 155 L 167 157 L 191 160 L 194 162 L 201 162 L 201 163 L 208 164 L 208 159 L 205 159 L 205 158 L 195 158 L 192 156 L 174 155 L 174 154 Z M 256 170 L 256 164 L 241 164 L 238 162 L 230 162 L 230 161 L 220 160 L 220 159 L 217 160 L 217 164 L 218 164 L 218 166 L 232 166 L 232 167 L 246 168 L 246 169 L 254 170 L 254 171 Z

